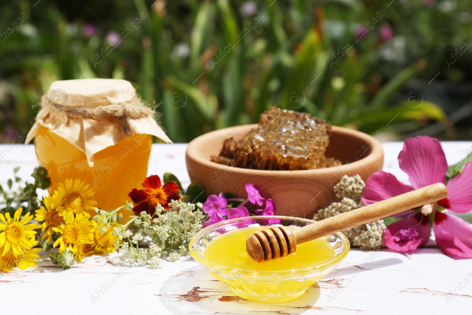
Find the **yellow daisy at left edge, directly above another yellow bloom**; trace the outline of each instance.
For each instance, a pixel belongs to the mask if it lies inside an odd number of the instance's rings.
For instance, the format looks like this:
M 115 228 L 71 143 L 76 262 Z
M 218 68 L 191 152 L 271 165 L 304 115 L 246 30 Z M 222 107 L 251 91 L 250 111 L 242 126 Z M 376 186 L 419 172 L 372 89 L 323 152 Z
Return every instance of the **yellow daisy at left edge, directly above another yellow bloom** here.
M 12 249 L 13 255 L 18 257 L 23 254 L 24 249 L 29 249 L 35 244 L 34 234 L 36 231 L 34 229 L 37 229 L 38 225 L 36 223 L 26 224 L 33 219 L 29 212 L 20 220 L 22 212 L 23 209 L 18 208 L 13 215 L 13 220 L 11 220 L 10 213 L 7 212 L 5 216 L 0 213 L 0 220 L 3 222 L 0 223 L 0 231 L 3 231 L 0 233 L 0 246 L 3 247 L 2 256 Z

